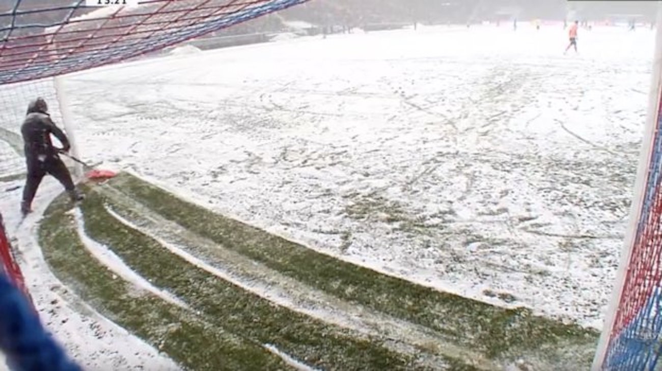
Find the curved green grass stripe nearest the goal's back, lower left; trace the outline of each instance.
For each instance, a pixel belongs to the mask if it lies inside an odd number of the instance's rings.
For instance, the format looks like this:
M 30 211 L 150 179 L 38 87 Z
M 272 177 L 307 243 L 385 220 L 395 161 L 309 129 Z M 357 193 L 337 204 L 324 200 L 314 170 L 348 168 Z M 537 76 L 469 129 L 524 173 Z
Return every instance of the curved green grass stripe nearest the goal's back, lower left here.
M 68 198 L 48 207 L 39 242 L 54 274 L 99 313 L 166 352 L 191 370 L 275 370 L 287 364 L 259 345 L 225 333 L 190 311 L 149 292 L 136 294 L 130 283 L 113 277 L 81 243 Z

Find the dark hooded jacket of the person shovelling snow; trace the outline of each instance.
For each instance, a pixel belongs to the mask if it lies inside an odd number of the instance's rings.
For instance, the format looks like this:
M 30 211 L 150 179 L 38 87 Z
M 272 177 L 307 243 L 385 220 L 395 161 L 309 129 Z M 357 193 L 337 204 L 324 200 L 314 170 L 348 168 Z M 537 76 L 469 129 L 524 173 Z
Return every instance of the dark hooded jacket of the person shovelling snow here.
M 70 148 L 67 136 L 51 120 L 48 112 L 42 112 L 36 101 L 30 102 L 23 126 L 23 143 L 25 157 L 28 161 L 38 159 L 43 161 L 46 157 L 58 157 L 58 149 L 53 146 L 50 134 L 53 134 L 65 150 Z

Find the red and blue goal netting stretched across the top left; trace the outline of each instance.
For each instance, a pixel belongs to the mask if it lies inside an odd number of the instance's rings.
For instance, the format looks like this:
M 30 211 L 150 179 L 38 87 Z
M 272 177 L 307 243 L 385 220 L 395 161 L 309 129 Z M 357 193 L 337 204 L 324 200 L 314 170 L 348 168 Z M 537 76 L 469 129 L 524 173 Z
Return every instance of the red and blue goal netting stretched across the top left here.
M 135 58 L 308 0 L 0 1 L 0 84 Z

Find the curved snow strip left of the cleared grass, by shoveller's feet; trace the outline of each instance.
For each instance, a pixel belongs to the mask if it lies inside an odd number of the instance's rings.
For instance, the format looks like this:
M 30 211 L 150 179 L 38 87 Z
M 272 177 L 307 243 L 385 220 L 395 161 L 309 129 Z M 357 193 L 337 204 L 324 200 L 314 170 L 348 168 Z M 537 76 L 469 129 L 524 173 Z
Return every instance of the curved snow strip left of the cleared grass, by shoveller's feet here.
M 82 302 L 46 265 L 35 223 L 60 191 L 56 181 L 45 179 L 35 200 L 34 214 L 20 227 L 17 215 L 21 190 L 0 193 L 5 229 L 17 239 L 13 243 L 20 245 L 17 259 L 42 323 L 87 370 L 138 370 L 146 366 L 150 370 L 179 370 L 169 358 Z M 3 366 L 0 364 L 0 370 Z

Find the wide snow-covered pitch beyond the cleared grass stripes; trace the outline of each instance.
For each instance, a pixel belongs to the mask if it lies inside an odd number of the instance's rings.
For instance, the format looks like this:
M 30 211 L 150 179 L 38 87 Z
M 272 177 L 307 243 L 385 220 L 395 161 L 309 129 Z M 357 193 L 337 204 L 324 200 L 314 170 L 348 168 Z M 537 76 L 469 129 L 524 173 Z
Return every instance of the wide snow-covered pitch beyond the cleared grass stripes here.
M 302 38 L 77 73 L 66 93 L 89 162 L 348 261 L 599 328 L 653 32 L 579 36 L 567 56 L 560 26 Z M 10 232 L 20 192 L 0 200 Z

